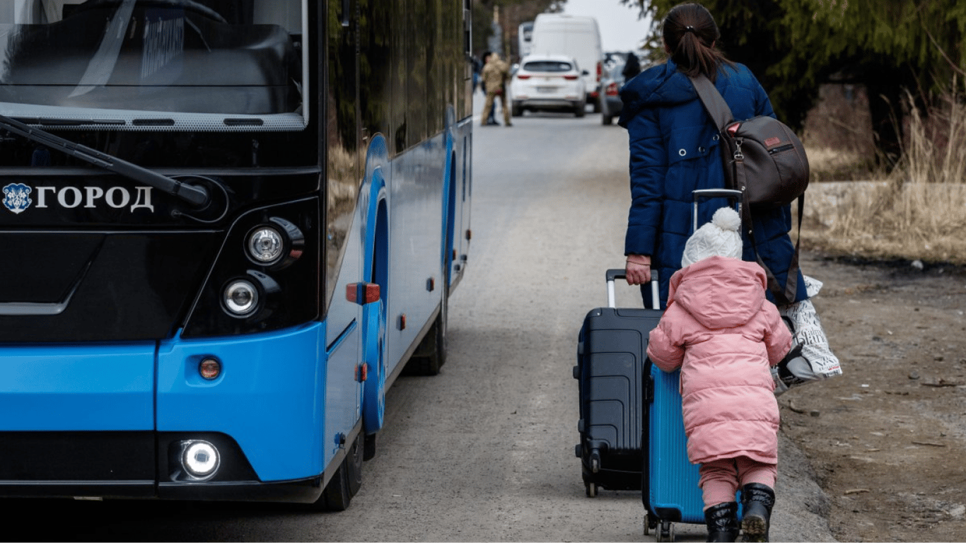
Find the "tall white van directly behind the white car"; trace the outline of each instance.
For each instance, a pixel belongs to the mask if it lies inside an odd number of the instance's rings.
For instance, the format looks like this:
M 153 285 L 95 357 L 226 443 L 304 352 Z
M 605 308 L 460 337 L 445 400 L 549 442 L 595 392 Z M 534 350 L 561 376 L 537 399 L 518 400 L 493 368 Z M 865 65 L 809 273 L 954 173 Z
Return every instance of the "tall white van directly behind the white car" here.
M 582 71 L 587 103 L 599 111 L 601 72 L 604 70 L 604 50 L 601 46 L 597 19 L 591 16 L 568 14 L 539 14 L 533 21 L 530 53 L 565 55 L 577 60 Z

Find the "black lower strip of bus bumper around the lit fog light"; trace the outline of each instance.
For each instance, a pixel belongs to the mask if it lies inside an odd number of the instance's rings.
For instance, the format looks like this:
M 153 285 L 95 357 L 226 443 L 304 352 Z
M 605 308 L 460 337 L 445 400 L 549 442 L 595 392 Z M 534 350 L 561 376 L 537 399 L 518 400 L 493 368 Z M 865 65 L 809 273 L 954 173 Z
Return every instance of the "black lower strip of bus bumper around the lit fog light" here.
M 223 469 L 213 480 L 156 480 L 178 472 L 173 451 L 213 443 Z M 0 432 L 0 498 L 144 498 L 310 503 L 322 476 L 259 481 L 231 438 L 211 433 Z

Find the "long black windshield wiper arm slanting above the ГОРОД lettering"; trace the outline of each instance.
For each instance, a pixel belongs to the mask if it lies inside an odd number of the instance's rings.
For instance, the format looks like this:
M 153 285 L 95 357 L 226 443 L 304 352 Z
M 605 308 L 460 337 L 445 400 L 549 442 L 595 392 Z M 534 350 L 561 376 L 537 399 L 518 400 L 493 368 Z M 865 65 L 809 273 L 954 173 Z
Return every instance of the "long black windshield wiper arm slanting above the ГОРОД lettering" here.
M 172 196 L 177 196 L 185 202 L 201 207 L 208 204 L 210 196 L 208 190 L 204 186 L 196 185 L 185 185 L 184 183 L 171 179 L 170 177 L 163 176 L 159 173 L 153 172 L 147 168 L 142 168 L 137 164 L 132 164 L 127 160 L 122 160 L 118 157 L 111 157 L 110 155 L 101 153 L 90 147 L 83 146 L 79 143 L 73 143 L 62 137 L 55 136 L 52 133 L 46 132 L 42 129 L 35 129 L 28 125 L 11 119 L 10 117 L 0 115 L 0 129 L 6 129 L 15 134 L 22 135 L 23 137 L 45 145 L 50 149 L 66 153 L 71 157 L 77 157 L 86 162 L 90 162 L 95 166 L 103 168 L 109 172 L 114 172 L 116 174 L 127 177 L 128 179 L 138 181 L 148 186 L 153 186 L 161 192 L 171 194 Z

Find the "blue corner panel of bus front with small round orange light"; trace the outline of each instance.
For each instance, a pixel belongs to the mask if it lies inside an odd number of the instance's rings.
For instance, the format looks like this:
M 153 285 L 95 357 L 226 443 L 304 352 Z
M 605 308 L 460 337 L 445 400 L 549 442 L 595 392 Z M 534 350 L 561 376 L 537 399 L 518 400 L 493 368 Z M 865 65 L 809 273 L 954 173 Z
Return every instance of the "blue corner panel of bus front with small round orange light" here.
M 327 366 L 324 326 L 162 344 L 157 363 L 157 430 L 221 432 L 233 438 L 261 481 L 323 472 Z M 214 381 L 203 357 L 221 360 Z

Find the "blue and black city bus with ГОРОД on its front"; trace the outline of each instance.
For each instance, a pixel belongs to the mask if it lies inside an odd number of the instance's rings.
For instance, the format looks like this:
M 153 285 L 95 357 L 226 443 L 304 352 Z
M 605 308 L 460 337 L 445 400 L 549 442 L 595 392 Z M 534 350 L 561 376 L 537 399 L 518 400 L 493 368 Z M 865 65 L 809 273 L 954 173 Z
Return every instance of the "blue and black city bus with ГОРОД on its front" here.
M 445 360 L 469 13 L 0 3 L 0 497 L 349 505 Z

